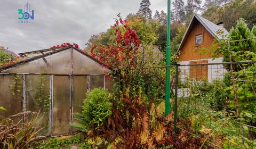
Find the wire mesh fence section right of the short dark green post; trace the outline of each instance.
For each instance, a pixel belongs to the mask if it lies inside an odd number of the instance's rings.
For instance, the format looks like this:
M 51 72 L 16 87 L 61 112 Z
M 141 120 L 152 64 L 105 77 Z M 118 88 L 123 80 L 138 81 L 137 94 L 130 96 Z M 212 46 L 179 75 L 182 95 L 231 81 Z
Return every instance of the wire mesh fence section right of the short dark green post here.
M 204 134 L 201 139 L 213 148 L 254 148 L 255 62 L 197 61 L 175 67 L 178 81 L 171 94 L 178 100 L 177 121 L 182 119 L 195 136 Z M 175 110 L 173 100 L 171 105 Z

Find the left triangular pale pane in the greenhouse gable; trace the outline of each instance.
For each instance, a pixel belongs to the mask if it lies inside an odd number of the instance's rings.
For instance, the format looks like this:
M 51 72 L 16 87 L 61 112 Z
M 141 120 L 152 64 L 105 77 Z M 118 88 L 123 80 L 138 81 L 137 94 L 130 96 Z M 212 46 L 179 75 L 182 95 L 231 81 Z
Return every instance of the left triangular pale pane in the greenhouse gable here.
M 3 70 L 9 73 L 54 73 L 70 74 L 71 48 Z

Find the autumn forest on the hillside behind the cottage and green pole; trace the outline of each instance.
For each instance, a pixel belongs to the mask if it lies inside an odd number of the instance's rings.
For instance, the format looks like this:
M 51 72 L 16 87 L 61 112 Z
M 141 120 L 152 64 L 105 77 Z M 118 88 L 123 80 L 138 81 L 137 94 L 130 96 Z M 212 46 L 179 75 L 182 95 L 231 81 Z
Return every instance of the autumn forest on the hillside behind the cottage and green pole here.
M 142 0 L 137 13 L 126 16 L 132 29 L 137 30 L 142 45 L 156 46 L 165 55 L 166 48 L 166 12 L 156 11 L 153 15 L 149 8 L 150 1 Z M 201 0 L 188 0 L 186 5 L 182 0 L 172 2 L 171 10 L 171 51 L 177 51 L 187 26 L 193 14 L 202 15 L 213 23 L 223 22 L 228 31 L 235 27 L 236 21 L 243 18 L 252 28 L 256 23 L 256 2 L 253 0 L 206 0 L 202 6 Z M 115 30 L 110 27 L 98 35 L 92 35 L 86 43 L 86 51 L 91 51 L 94 45 L 108 45 L 115 42 Z

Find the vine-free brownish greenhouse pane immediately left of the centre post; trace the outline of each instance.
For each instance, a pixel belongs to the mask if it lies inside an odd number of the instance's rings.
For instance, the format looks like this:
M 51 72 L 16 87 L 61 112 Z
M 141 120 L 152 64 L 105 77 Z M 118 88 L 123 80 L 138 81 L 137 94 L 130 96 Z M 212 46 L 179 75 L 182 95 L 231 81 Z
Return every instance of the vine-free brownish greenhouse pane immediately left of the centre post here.
M 52 136 L 70 133 L 70 77 L 53 77 Z

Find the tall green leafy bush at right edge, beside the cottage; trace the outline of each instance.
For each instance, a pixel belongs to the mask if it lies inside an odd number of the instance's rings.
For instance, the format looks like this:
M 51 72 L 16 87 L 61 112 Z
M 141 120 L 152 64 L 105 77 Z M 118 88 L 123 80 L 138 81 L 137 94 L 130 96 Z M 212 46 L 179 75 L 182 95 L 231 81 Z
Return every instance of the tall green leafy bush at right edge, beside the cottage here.
M 255 61 L 255 37 L 256 26 L 253 25 L 250 30 L 245 20 L 239 19 L 236 26 L 230 30 L 228 38 L 220 40 L 220 46 L 215 51 L 215 54 L 223 55 L 224 62 L 229 62 L 230 60 L 233 62 Z M 229 42 L 230 45 L 228 44 Z M 231 73 L 232 71 L 229 67 L 223 80 L 228 110 L 239 111 L 239 114 L 237 113 L 239 120 L 252 126 L 256 124 L 255 69 L 255 64 L 233 64 L 233 73 Z M 236 89 L 231 83 L 232 74 L 235 78 Z

